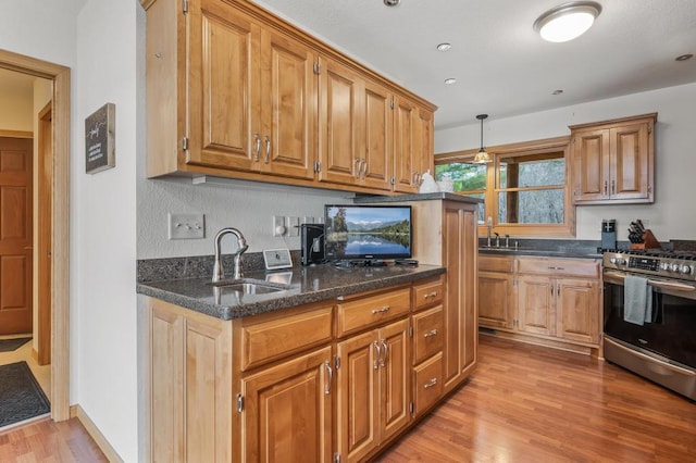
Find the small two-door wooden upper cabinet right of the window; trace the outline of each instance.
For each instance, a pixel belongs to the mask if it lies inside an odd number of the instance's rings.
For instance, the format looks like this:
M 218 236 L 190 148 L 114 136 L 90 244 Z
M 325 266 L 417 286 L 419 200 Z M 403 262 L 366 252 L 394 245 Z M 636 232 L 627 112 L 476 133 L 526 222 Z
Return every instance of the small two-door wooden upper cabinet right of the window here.
M 655 201 L 657 113 L 571 126 L 576 204 Z

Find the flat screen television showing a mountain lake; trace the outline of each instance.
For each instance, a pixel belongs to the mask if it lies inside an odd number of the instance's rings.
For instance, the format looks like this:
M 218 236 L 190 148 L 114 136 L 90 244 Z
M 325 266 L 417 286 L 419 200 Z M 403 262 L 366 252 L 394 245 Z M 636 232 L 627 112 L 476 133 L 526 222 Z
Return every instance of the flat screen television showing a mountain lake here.
M 411 207 L 326 204 L 324 259 L 411 258 Z

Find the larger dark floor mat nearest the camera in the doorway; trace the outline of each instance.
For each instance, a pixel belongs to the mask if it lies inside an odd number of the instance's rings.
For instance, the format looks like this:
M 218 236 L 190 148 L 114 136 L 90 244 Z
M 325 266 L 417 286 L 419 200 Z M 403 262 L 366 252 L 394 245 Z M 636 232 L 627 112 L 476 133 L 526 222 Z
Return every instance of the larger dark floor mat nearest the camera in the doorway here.
M 0 427 L 51 410 L 26 362 L 0 366 Z

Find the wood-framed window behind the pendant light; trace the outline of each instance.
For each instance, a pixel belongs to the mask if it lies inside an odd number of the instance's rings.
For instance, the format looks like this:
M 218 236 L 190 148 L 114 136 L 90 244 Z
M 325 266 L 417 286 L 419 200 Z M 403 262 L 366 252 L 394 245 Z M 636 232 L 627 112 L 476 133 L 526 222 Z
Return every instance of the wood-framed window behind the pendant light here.
M 568 137 L 488 148 L 493 162 L 474 164 L 475 150 L 435 155 L 435 177 L 452 179 L 458 195 L 483 198 L 478 224 L 513 236 L 575 234 L 570 201 Z

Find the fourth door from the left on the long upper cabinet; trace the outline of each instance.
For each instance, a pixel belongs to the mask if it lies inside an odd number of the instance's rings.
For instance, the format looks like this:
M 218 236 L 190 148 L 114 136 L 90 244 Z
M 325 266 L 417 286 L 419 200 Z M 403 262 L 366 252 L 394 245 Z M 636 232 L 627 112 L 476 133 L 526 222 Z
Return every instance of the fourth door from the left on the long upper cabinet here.
M 359 176 L 361 185 L 391 189 L 394 163 L 394 96 L 383 86 L 365 82 L 363 143 Z

